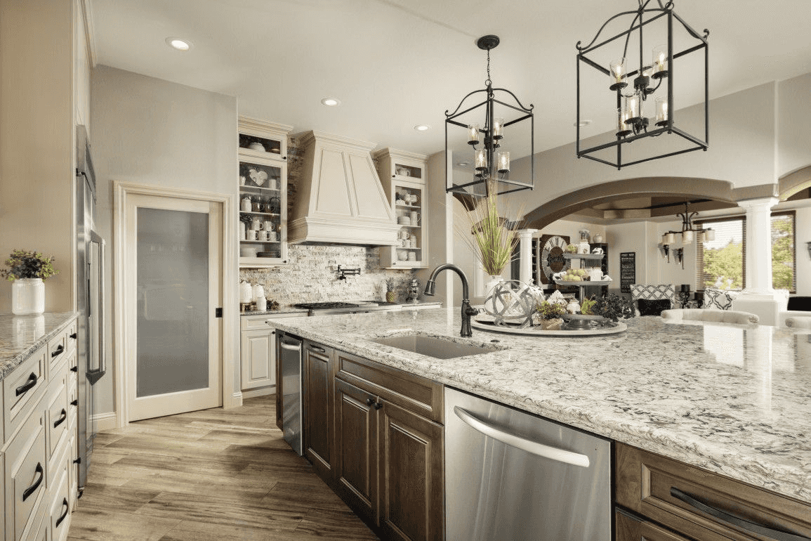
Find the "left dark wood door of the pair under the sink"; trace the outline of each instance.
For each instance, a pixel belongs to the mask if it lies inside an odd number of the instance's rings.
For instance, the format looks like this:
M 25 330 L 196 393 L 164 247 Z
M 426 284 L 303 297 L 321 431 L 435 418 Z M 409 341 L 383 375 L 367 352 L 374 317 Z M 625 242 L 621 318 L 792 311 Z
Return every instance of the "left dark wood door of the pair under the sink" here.
M 335 380 L 335 461 L 339 496 L 367 522 L 377 523 L 377 397 Z

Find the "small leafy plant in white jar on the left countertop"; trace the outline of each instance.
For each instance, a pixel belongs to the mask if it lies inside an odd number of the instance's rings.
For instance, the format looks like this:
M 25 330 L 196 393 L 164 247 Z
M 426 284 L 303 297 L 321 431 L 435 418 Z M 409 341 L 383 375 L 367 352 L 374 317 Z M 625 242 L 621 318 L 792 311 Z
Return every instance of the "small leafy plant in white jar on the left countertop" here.
M 58 273 L 54 258 L 38 251 L 13 250 L 0 269 L 0 276 L 11 284 L 11 313 L 15 316 L 41 314 L 45 311 L 45 278 Z

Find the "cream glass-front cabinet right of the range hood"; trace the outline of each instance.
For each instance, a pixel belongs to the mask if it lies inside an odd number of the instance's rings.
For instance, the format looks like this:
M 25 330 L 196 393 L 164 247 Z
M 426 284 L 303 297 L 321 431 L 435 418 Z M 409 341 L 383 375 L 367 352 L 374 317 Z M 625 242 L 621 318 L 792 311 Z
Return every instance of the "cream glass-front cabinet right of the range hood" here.
M 394 148 L 383 148 L 373 152 L 372 156 L 400 225 L 397 234 L 400 243 L 380 248 L 380 264 L 385 268 L 426 268 L 428 157 Z

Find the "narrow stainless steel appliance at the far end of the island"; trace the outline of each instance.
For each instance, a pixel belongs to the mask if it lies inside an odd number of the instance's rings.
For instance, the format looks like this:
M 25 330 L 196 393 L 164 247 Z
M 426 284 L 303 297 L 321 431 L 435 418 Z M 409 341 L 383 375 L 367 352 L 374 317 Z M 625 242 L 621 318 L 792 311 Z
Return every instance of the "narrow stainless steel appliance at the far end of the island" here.
M 301 455 L 302 438 L 302 339 L 279 331 L 281 363 L 281 431 L 285 441 Z

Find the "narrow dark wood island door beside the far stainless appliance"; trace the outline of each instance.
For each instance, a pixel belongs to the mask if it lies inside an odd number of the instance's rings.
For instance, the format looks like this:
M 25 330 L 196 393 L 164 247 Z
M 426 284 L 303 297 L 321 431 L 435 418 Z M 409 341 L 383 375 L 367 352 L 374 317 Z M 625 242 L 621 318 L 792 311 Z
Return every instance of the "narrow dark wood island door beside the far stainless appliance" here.
M 303 350 L 304 456 L 332 484 L 334 352 L 308 340 Z

